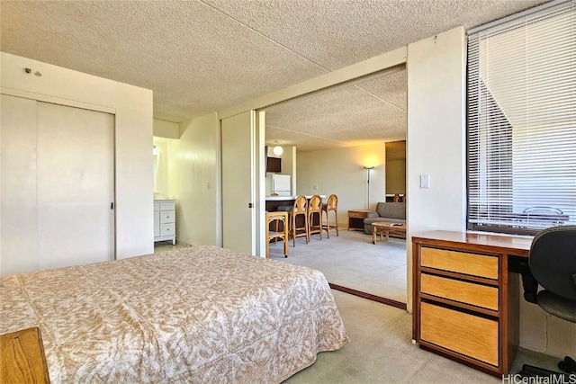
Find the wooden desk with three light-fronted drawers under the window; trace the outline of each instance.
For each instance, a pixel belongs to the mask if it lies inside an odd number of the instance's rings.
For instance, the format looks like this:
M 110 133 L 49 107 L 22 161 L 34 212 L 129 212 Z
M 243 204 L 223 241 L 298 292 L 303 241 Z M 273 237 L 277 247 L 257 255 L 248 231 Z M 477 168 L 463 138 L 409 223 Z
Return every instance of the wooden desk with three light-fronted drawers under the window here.
M 435 231 L 412 237 L 412 338 L 494 376 L 518 347 L 518 273 L 532 240 Z

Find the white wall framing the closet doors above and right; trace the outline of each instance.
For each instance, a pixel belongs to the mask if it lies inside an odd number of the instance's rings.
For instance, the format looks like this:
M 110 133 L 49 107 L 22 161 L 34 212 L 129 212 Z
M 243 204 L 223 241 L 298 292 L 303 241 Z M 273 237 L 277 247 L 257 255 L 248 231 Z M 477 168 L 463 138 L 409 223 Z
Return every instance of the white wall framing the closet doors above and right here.
M 3 94 L 115 114 L 116 257 L 153 252 L 152 91 L 4 52 L 0 60 Z

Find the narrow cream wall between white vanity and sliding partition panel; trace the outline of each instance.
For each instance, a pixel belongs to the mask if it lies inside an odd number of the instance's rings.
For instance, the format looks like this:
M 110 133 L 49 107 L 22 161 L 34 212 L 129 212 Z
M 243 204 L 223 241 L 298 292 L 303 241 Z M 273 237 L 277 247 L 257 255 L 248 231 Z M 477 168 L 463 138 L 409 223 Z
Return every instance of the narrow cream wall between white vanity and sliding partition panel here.
M 218 145 L 216 112 L 180 124 L 168 141 L 168 190 L 176 199 L 176 240 L 216 246 L 218 233 Z

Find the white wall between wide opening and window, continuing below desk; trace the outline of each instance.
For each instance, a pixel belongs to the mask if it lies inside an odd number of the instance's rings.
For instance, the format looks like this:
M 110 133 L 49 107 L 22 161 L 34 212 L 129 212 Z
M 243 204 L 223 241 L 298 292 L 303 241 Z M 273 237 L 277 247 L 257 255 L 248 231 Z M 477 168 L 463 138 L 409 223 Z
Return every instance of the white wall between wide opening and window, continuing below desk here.
M 465 230 L 465 47 L 462 28 L 408 46 L 410 237 L 434 229 Z M 429 189 L 419 188 L 420 174 L 430 175 Z M 409 263 L 411 292 L 410 258 Z M 576 335 L 575 324 L 520 298 L 521 346 L 562 357 L 576 350 L 576 337 L 568 335 Z

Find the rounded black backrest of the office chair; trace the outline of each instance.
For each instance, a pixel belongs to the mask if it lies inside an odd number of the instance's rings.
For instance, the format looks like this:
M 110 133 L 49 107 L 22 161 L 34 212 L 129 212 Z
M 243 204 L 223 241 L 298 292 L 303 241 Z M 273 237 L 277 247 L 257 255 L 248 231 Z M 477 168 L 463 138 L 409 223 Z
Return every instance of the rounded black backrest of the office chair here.
M 530 270 L 555 295 L 576 300 L 576 226 L 546 228 L 532 240 Z

